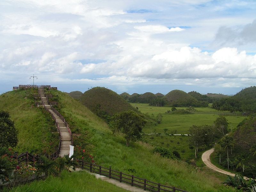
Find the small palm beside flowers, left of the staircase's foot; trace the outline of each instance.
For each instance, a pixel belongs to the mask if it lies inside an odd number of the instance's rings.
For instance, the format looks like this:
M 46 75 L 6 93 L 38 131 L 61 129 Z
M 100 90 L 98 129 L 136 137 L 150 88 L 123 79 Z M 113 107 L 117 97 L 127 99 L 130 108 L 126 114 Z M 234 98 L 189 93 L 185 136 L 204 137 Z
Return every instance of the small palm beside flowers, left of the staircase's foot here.
M 56 162 L 49 160 L 46 156 L 40 157 L 41 163 L 36 166 L 39 173 L 44 173 L 45 178 L 49 176 L 49 174 L 56 172 L 54 166 Z

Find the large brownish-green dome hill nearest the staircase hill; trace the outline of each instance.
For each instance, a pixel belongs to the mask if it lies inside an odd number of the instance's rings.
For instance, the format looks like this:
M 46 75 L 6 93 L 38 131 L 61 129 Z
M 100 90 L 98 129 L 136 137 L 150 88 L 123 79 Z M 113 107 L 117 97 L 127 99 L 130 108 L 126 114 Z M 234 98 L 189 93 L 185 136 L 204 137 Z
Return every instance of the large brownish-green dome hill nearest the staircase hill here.
M 103 118 L 129 109 L 136 110 L 116 92 L 104 87 L 94 87 L 84 92 L 79 100 L 96 115 Z

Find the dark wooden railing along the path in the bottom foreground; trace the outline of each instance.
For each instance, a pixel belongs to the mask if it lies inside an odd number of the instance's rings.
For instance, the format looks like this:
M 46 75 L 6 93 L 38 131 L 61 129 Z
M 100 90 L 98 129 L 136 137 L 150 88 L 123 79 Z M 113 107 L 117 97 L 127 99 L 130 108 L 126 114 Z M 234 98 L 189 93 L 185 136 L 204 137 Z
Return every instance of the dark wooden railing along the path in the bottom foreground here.
M 109 168 L 102 167 L 100 165 L 87 163 L 85 161 L 75 159 L 77 161 L 78 167 L 81 169 L 86 169 L 90 172 L 98 173 L 100 175 L 104 175 L 106 177 L 109 177 L 110 179 L 118 180 L 119 182 L 124 182 L 127 184 L 130 184 L 131 186 L 136 186 L 139 188 L 143 188 L 144 190 L 153 191 L 153 192 L 175 192 L 175 191 L 181 191 L 181 192 L 187 192 L 181 189 L 177 189 L 175 187 L 165 186 L 160 183 L 155 183 L 146 179 L 141 179 L 139 177 L 135 177 L 134 175 L 128 175 L 123 172 L 118 172 L 111 169 L 111 166 Z

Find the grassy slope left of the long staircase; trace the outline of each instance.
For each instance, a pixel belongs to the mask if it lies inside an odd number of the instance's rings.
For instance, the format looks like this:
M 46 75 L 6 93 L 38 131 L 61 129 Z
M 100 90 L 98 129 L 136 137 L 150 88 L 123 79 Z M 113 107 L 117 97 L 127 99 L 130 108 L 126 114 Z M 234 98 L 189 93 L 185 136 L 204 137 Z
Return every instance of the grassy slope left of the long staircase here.
M 34 103 L 37 90 L 17 90 L 0 96 L 0 109 L 8 111 L 18 130 L 19 153 L 54 153 L 59 136 L 51 115 Z

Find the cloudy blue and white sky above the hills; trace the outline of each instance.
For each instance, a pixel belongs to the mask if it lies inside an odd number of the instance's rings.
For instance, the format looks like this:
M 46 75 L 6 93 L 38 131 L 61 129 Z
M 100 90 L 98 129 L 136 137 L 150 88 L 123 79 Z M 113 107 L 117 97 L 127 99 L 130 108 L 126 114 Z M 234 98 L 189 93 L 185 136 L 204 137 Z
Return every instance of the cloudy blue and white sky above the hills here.
M 236 94 L 256 84 L 256 1 L 1 0 L 0 93 Z

